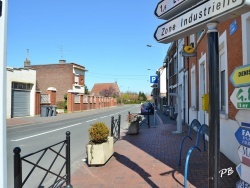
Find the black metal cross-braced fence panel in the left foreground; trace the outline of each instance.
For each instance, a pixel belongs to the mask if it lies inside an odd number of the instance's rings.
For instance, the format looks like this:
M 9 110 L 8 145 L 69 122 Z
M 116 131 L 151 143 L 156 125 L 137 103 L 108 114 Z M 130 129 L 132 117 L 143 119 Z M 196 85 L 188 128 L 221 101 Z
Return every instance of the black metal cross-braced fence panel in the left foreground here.
M 55 150 L 56 146 L 59 147 L 58 151 Z M 61 151 L 63 150 L 64 147 L 66 151 L 65 156 L 61 154 Z M 48 151 L 55 153 L 56 156 L 52 160 L 49 167 L 46 169 L 43 166 L 39 165 L 39 162 L 42 160 L 42 158 L 45 156 L 46 152 Z M 48 174 L 50 174 L 52 176 L 55 176 L 54 182 L 50 186 L 50 188 L 61 187 L 65 185 L 65 183 L 66 183 L 65 188 L 73 188 L 73 186 L 70 184 L 70 132 L 69 131 L 66 132 L 66 140 L 58 142 L 54 145 L 51 145 L 47 148 L 41 149 L 34 153 L 30 153 L 28 155 L 21 157 L 20 156 L 21 149 L 19 147 L 14 148 L 13 152 L 14 152 L 14 188 L 22 188 L 27 182 L 27 180 L 31 177 L 31 174 L 34 172 L 36 168 L 45 172 L 45 175 L 41 177 L 41 181 L 37 180 L 37 181 L 40 181 L 40 183 L 38 183 L 38 186 L 36 187 L 43 188 L 45 179 L 48 176 Z M 34 156 L 35 154 L 38 155 L 39 153 L 40 153 L 40 157 L 38 157 L 38 160 L 36 162 L 33 162 L 28 159 L 29 157 Z M 59 173 L 55 173 L 52 171 L 52 167 L 55 164 L 58 157 L 61 157 L 65 162 L 62 164 L 62 167 Z M 33 166 L 30 172 L 24 178 L 24 180 L 22 177 L 22 162 L 23 161 Z

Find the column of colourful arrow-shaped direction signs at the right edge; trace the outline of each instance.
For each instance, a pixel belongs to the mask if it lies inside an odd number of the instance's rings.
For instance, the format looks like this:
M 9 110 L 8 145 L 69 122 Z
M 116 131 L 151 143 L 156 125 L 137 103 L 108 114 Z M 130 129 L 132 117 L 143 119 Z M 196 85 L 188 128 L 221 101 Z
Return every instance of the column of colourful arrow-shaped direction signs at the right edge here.
M 250 66 L 236 67 L 230 76 L 230 81 L 236 87 L 230 96 L 230 100 L 236 109 L 239 109 L 235 116 L 240 125 L 235 132 L 235 137 L 241 145 L 238 155 L 241 163 L 236 170 L 241 178 L 236 187 L 250 187 Z M 243 87 L 246 86 L 246 87 Z

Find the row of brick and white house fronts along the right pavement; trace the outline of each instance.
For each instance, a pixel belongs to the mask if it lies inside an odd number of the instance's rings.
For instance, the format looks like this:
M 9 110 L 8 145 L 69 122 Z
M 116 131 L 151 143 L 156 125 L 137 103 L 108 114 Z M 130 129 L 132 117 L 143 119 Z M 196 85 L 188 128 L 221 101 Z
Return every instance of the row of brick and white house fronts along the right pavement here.
M 236 29 L 232 29 L 236 28 Z M 230 96 L 236 89 L 230 82 L 230 75 L 237 67 L 250 63 L 250 12 L 221 22 L 217 26 L 219 34 L 219 90 L 220 90 L 220 150 L 235 164 L 239 164 L 239 143 L 235 132 L 240 123 L 237 114 L 245 114 L 245 121 L 250 122 L 249 109 L 236 109 Z M 183 46 L 192 45 L 196 55 L 183 57 Z M 190 124 L 197 119 L 201 124 L 208 124 L 209 114 L 202 108 L 202 97 L 209 94 L 208 57 L 206 30 L 197 31 L 172 42 L 167 52 L 167 104 L 180 106 L 182 122 Z M 247 88 L 250 90 L 249 86 Z M 171 99 L 169 93 L 177 93 L 181 104 Z M 245 100 L 250 98 L 245 97 Z M 246 101 L 248 102 L 248 101 Z M 244 116 L 245 116 L 244 115 Z M 239 115 L 238 115 L 239 116 Z M 242 116 L 242 115 L 241 115 Z

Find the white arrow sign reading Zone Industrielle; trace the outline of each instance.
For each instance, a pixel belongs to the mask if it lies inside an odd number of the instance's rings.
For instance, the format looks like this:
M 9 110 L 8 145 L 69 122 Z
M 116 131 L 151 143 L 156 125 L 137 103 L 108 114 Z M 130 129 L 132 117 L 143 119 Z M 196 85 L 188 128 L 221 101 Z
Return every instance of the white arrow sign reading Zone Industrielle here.
M 210 0 L 187 9 L 158 26 L 154 38 L 169 43 L 200 31 L 211 22 L 223 22 L 249 11 L 250 0 Z

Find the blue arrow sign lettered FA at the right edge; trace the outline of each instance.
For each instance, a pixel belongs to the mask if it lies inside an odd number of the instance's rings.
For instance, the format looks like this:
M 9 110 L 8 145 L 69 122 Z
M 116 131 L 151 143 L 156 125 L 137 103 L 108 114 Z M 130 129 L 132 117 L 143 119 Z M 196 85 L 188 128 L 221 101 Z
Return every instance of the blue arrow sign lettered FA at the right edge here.
M 235 137 L 241 145 L 250 147 L 250 128 L 239 127 L 235 132 Z

